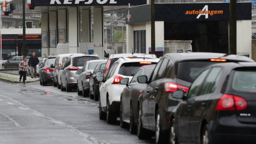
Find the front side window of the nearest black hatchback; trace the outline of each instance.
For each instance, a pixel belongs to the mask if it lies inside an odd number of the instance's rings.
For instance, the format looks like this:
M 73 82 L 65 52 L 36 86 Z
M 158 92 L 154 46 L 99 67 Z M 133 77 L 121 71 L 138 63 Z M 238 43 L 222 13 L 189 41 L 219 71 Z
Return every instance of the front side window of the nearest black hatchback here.
M 202 74 L 200 74 L 195 81 L 193 82 L 193 84 L 190 86 L 190 90 L 188 93 L 188 99 L 196 97 L 197 93 L 202 85 L 202 82 L 204 81 L 205 76 L 207 75 L 209 69 L 203 71 Z

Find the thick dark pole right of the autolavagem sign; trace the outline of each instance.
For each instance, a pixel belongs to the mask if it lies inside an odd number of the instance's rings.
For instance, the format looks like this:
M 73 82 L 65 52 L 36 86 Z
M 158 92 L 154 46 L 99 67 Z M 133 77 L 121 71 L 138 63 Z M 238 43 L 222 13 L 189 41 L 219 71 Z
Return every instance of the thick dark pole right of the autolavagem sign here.
M 229 54 L 236 54 L 236 20 L 237 4 L 236 0 L 231 0 L 229 5 Z

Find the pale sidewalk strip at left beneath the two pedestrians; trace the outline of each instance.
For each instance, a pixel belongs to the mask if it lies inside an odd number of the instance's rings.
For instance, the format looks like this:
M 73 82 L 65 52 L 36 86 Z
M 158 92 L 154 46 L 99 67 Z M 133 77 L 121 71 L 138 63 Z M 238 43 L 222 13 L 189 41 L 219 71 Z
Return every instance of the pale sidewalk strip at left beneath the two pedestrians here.
M 22 83 L 22 78 L 21 78 L 21 82 L 19 82 L 20 75 L 0 71 L 0 81 L 4 81 L 7 83 Z M 27 80 L 25 81 L 25 83 L 33 83 L 39 80 L 40 80 L 39 77 L 31 78 L 29 75 L 27 75 Z

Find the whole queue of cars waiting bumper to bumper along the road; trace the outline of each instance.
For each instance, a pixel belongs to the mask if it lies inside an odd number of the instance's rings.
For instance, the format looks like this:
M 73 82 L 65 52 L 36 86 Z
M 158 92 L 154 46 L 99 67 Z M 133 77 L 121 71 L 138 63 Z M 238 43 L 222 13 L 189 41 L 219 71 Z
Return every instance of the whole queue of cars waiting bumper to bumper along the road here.
M 54 61 L 54 62 L 53 62 Z M 45 73 L 45 74 L 43 74 Z M 43 77 L 47 77 L 48 80 Z M 222 53 L 60 54 L 41 84 L 99 100 L 99 118 L 156 143 L 251 143 L 256 63 Z M 47 82 L 47 83 L 46 83 Z

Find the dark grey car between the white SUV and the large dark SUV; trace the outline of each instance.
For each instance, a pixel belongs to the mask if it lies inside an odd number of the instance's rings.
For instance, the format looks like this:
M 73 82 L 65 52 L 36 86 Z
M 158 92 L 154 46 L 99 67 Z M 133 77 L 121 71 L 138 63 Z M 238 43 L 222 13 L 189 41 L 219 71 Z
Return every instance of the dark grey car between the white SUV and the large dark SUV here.
M 156 65 L 147 65 L 139 68 L 129 82 L 129 78 L 123 78 L 121 84 L 126 84 L 121 94 L 121 108 L 120 108 L 120 125 L 126 127 L 125 124 L 130 124 L 130 132 L 135 134 L 137 132 L 138 122 L 138 98 L 142 90 L 146 88 L 147 84 L 138 83 L 138 76 L 146 75 L 149 77 Z

